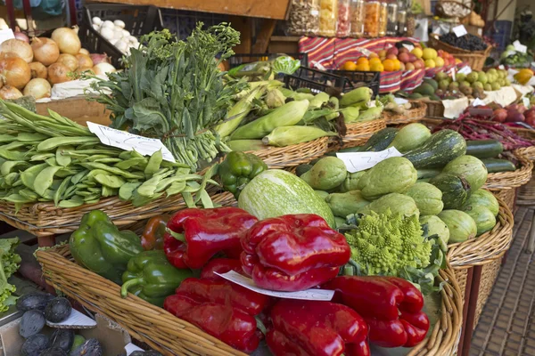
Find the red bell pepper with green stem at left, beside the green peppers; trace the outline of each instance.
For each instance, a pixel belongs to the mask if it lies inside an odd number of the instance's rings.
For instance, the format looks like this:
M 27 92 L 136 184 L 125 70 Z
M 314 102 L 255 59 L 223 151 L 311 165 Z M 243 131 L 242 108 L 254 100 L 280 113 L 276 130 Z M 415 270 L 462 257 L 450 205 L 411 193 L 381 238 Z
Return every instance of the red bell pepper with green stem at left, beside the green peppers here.
M 199 269 L 219 252 L 237 258 L 242 252 L 240 238 L 256 222 L 256 217 L 232 206 L 180 210 L 167 224 L 164 250 L 169 263 Z

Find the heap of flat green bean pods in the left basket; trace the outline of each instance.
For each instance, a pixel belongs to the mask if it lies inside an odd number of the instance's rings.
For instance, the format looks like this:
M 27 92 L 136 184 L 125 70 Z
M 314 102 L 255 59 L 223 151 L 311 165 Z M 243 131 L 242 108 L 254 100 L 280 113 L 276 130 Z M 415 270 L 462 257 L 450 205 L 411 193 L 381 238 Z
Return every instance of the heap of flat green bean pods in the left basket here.
M 163 160 L 161 150 L 149 158 L 105 146 L 87 127 L 49 113 L 0 101 L 0 201 L 75 207 L 119 195 L 144 206 L 180 193 L 188 206 L 212 206 L 205 187 L 217 184 L 210 180 L 215 167 L 191 174 L 189 166 Z

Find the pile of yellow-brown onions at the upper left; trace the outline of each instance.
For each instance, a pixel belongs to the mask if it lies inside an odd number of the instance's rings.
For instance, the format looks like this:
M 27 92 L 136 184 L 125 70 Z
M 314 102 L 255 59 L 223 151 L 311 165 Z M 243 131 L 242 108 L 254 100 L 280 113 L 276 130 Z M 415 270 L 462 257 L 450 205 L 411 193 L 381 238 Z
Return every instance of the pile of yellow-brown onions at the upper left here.
M 56 28 L 52 38 L 29 38 L 20 31 L 16 38 L 0 44 L 0 98 L 16 99 L 31 95 L 48 98 L 51 86 L 72 80 L 70 73 L 90 71 L 105 75 L 115 71 L 105 54 L 89 53 L 81 48 L 77 31 Z

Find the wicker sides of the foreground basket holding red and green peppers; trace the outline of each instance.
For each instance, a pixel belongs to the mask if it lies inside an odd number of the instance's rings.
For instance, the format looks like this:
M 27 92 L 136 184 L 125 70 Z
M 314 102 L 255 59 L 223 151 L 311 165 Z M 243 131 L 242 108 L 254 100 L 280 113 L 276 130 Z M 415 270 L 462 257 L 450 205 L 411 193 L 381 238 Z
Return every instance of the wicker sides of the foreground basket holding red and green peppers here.
M 180 320 L 135 295 L 120 297 L 120 287 L 72 262 L 68 245 L 37 251 L 46 282 L 92 312 L 98 312 L 125 328 L 131 336 L 164 355 L 245 356 L 201 329 Z M 448 266 L 440 271 L 443 283 L 440 318 L 425 340 L 408 356 L 452 355 L 462 323 L 461 290 Z

